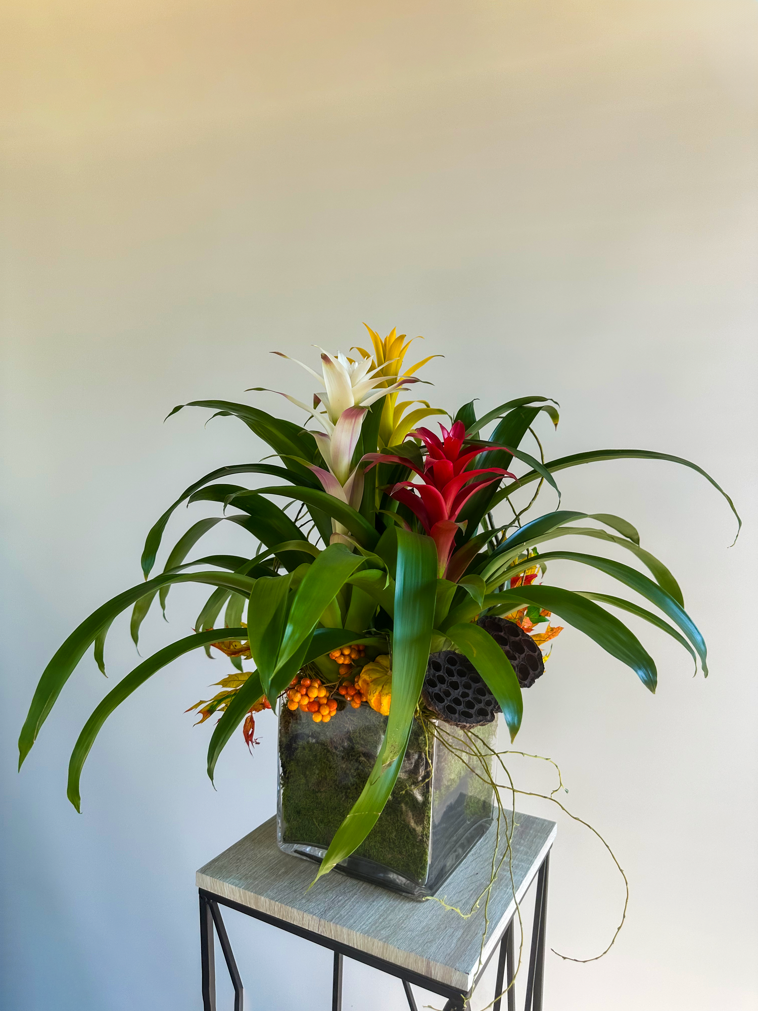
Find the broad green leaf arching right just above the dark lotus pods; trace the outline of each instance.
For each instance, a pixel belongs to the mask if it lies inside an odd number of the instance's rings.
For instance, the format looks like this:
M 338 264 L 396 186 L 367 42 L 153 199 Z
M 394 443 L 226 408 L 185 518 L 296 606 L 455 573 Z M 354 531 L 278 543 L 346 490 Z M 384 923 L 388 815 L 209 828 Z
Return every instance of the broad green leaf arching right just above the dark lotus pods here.
M 631 667 L 646 688 L 655 692 L 658 674 L 653 658 L 637 636 L 613 615 L 579 593 L 561 586 L 519 586 L 485 599 L 491 614 L 506 615 L 522 605 L 536 605 L 573 625 L 602 646 L 617 660 Z

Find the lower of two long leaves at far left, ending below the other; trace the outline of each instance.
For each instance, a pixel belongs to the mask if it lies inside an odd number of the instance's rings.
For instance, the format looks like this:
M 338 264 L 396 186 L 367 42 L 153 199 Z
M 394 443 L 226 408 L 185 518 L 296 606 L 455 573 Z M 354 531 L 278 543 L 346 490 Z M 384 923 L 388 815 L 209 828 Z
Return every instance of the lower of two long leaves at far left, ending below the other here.
M 100 732 L 103 724 L 116 707 L 120 706 L 124 700 L 128 699 L 132 692 L 144 684 L 148 678 L 161 670 L 172 660 L 189 653 L 193 649 L 198 649 L 207 643 L 224 642 L 227 639 L 245 638 L 247 630 L 244 628 L 225 629 L 223 632 L 201 632 L 199 634 L 187 636 L 170 646 L 160 649 L 149 659 L 144 660 L 137 667 L 126 674 L 116 686 L 109 692 L 100 705 L 95 709 L 92 716 L 85 723 L 84 729 L 77 738 L 74 750 L 71 753 L 69 762 L 69 786 L 68 797 L 74 807 L 81 813 L 81 796 L 79 794 L 79 780 L 82 775 L 82 768 L 90 753 L 95 738 Z M 260 698 L 260 696 L 259 696 Z

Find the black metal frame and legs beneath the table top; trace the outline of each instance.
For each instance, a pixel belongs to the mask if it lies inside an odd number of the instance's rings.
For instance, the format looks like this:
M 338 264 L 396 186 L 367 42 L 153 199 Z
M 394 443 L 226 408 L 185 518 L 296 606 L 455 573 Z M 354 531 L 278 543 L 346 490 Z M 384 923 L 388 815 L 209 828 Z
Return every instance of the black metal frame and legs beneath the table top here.
M 529 972 L 527 974 L 527 996 L 524 1005 L 525 1011 L 542 1011 L 549 868 L 550 851 L 546 854 L 539 871 L 535 876 L 537 880 L 537 895 L 535 898 L 535 916 L 532 928 L 532 946 L 529 958 Z M 533 881 L 535 879 L 533 879 Z M 532 885 L 530 883 L 530 888 L 531 887 Z M 249 906 L 243 906 L 240 903 L 232 902 L 230 899 L 226 899 L 223 896 L 215 895 L 212 892 L 206 892 L 204 889 L 198 889 L 198 892 L 200 895 L 200 955 L 202 962 L 203 1011 L 216 1011 L 215 956 L 213 944 L 214 928 L 226 962 L 226 969 L 228 970 L 229 977 L 231 979 L 231 984 L 234 988 L 234 1011 L 244 1011 L 245 994 L 243 990 L 243 981 L 240 976 L 240 971 L 236 968 L 236 962 L 234 961 L 234 955 L 231 951 L 231 945 L 229 944 L 228 935 L 226 934 L 226 928 L 224 927 L 223 920 L 221 919 L 221 911 L 218 908 L 219 905 L 227 906 L 229 909 L 236 910 L 238 913 L 245 913 L 246 916 L 252 916 L 256 920 L 268 923 L 272 927 L 278 927 L 280 930 L 286 930 L 290 934 L 297 934 L 298 937 L 304 937 L 305 940 L 312 941 L 314 944 L 319 944 L 321 947 L 329 948 L 334 951 L 335 964 L 331 983 L 331 1011 L 342 1011 L 343 958 L 346 956 L 348 958 L 354 958 L 356 961 L 362 961 L 365 966 L 371 966 L 373 969 L 378 969 L 380 972 L 386 973 L 388 976 L 394 976 L 399 979 L 402 982 L 410 1011 L 417 1011 L 415 999 L 410 989 L 411 984 L 421 987 L 424 990 L 429 990 L 434 994 L 439 994 L 441 997 L 446 997 L 448 999 L 448 1003 L 445 1005 L 445 1011 L 464 1011 L 466 1002 L 471 997 L 476 985 L 481 979 L 482 974 L 489 964 L 492 955 L 497 950 L 497 946 L 495 946 L 490 957 L 486 962 L 484 962 L 477 973 L 473 987 L 470 991 L 468 991 L 468 993 L 465 993 L 455 987 L 448 986 L 445 983 L 440 983 L 439 980 L 421 976 L 419 973 L 414 973 L 409 969 L 404 969 L 402 966 L 396 966 L 394 962 L 386 961 L 384 958 L 378 958 L 376 955 L 368 954 L 366 951 L 359 951 L 358 948 L 351 947 L 349 944 L 343 944 L 340 941 L 331 940 L 329 937 L 316 934 L 311 930 L 305 930 L 302 927 L 297 927 L 292 923 L 287 923 L 285 920 L 280 920 L 278 917 L 269 916 L 267 913 L 259 912 L 257 909 L 251 909 Z M 510 921 L 499 938 L 497 981 L 495 983 L 495 996 L 497 999 L 493 1004 L 493 1011 L 500 1011 L 500 998 L 503 995 L 505 987 L 508 988 L 504 995 L 506 999 L 507 1011 L 515 1011 L 515 988 L 512 986 L 513 974 L 515 971 L 515 959 L 513 955 L 513 919 L 514 917 L 510 918 Z

